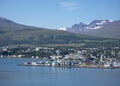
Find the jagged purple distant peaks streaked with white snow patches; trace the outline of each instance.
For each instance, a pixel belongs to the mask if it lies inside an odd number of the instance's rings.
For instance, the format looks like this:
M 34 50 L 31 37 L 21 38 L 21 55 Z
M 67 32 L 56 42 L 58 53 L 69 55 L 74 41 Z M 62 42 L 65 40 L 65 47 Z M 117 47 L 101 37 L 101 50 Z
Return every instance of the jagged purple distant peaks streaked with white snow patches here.
M 62 27 L 62 28 L 58 28 L 58 30 L 81 33 L 87 30 L 100 29 L 111 22 L 113 21 L 112 20 L 94 20 L 90 24 L 85 24 L 80 22 L 79 24 L 74 24 L 72 27 Z

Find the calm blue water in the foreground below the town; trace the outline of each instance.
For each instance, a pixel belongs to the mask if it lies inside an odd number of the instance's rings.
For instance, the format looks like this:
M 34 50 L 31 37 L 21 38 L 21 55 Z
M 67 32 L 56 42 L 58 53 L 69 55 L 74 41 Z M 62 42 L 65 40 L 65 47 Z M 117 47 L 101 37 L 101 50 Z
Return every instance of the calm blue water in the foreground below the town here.
M 120 86 L 120 69 L 18 66 L 33 59 L 0 58 L 0 86 Z

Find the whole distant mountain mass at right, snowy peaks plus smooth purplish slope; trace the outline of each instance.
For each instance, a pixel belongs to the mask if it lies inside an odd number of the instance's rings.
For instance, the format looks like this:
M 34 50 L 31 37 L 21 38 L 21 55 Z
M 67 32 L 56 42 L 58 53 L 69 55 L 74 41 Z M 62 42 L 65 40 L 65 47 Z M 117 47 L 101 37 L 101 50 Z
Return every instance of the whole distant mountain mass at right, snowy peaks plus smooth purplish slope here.
M 120 20 L 94 20 L 90 24 L 74 24 L 66 31 L 94 37 L 120 39 Z

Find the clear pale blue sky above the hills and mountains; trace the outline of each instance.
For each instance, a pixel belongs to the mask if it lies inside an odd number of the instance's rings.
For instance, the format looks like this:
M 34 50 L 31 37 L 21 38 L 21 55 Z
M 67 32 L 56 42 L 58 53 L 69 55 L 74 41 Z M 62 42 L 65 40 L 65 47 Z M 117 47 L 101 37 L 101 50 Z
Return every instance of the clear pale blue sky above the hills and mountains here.
M 0 17 L 49 29 L 120 20 L 120 0 L 0 0 Z

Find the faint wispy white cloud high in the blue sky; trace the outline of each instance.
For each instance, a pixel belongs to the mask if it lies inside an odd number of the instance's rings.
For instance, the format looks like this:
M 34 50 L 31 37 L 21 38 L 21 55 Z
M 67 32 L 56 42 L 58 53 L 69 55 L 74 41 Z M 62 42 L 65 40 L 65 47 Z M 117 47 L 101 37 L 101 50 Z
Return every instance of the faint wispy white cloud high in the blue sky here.
M 61 5 L 61 7 L 65 8 L 67 10 L 77 10 L 80 8 L 79 4 L 77 2 L 66 1 L 66 2 L 61 2 L 60 5 Z

